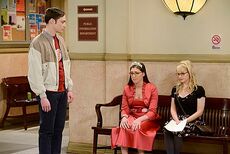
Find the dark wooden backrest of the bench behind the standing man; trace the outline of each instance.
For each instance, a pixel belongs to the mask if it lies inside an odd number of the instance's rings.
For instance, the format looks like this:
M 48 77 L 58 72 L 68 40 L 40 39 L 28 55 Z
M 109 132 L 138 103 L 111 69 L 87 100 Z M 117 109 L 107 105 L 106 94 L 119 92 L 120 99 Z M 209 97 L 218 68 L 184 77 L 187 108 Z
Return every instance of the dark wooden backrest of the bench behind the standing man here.
M 2 79 L 3 93 L 7 103 L 14 99 L 26 99 L 27 92 L 34 93 L 30 89 L 27 76 L 6 77 Z

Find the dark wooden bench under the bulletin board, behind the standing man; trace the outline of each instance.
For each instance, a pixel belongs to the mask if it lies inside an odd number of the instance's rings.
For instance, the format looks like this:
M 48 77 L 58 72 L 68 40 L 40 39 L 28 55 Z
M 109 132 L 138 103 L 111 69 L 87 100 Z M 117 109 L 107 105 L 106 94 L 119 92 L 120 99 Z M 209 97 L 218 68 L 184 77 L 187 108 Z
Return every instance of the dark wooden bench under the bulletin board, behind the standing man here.
M 35 98 L 35 94 L 31 91 L 27 76 L 15 76 L 2 79 L 3 95 L 6 99 L 6 112 L 0 123 L 1 127 L 4 127 L 4 122 L 7 118 L 23 118 L 24 129 L 27 130 L 27 117 L 36 115 L 36 113 L 27 113 L 28 106 L 38 106 L 38 100 Z M 27 92 L 31 93 L 31 99 L 28 100 Z M 22 115 L 8 115 L 11 108 L 22 109 Z

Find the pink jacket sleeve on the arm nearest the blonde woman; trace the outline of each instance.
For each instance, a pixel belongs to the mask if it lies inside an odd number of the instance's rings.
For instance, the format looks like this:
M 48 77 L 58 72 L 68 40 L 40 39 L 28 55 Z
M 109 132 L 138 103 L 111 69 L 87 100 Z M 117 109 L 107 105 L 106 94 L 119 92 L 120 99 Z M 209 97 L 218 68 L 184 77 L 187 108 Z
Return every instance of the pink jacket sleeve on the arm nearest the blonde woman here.
M 146 115 L 149 117 L 149 119 L 156 119 L 158 117 L 157 114 L 157 103 L 158 103 L 158 91 L 155 86 L 151 86 L 151 89 L 149 92 L 151 92 L 150 100 L 149 100 L 149 111 L 146 113 Z

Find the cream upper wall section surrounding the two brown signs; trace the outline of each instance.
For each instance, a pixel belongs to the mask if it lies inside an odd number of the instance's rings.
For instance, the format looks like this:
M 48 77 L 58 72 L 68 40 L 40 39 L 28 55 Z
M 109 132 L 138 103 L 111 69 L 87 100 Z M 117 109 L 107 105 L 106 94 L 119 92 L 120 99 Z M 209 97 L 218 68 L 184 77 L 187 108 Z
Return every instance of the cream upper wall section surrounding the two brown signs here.
M 67 0 L 67 24 L 68 29 L 66 37 L 68 48 L 70 52 L 81 53 L 104 53 L 105 52 L 105 0 Z M 98 5 L 98 14 L 77 14 L 78 5 Z M 98 17 L 98 41 L 77 41 L 77 25 L 78 17 Z

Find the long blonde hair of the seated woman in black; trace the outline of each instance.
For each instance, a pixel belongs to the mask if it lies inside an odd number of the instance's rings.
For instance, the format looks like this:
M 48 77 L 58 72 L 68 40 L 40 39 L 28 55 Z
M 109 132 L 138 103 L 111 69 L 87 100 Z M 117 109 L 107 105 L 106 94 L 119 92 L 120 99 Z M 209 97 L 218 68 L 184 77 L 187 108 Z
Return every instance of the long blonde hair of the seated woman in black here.
M 177 70 L 180 68 L 185 68 L 189 74 L 189 90 L 194 91 L 197 89 L 197 80 L 195 73 L 193 72 L 193 66 L 190 60 L 183 60 L 177 65 Z M 178 82 L 176 85 L 176 92 L 182 88 L 182 83 Z

